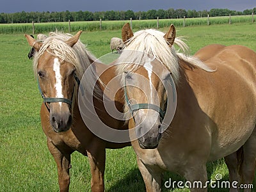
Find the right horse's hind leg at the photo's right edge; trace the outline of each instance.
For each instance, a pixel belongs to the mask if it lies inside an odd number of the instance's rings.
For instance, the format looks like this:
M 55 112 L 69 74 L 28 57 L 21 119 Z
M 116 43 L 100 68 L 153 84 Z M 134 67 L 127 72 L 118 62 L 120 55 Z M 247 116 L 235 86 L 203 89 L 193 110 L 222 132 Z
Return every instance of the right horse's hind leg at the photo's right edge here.
M 242 183 L 251 185 L 255 177 L 256 167 L 256 127 L 252 132 L 250 138 L 243 145 L 243 161 L 241 164 L 241 178 Z M 244 192 L 251 191 L 251 189 L 244 189 Z

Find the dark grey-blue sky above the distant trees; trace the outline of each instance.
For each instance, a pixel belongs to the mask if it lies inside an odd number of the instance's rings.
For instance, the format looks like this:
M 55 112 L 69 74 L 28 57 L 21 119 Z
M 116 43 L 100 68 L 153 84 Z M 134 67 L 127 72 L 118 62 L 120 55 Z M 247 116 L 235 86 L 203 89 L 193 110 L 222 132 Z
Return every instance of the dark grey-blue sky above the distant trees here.
M 133 10 L 147 11 L 168 8 L 211 10 L 228 8 L 243 11 L 256 7 L 255 0 L 0 0 L 0 13 Z

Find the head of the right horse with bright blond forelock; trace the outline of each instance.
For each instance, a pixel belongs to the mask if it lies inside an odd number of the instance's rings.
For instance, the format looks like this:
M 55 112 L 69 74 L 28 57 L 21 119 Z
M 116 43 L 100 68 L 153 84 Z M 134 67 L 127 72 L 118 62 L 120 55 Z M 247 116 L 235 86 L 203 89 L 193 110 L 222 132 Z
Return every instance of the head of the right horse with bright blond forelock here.
M 158 146 L 161 134 L 168 127 L 163 124 L 167 105 L 170 105 L 168 92 L 175 90 L 172 70 L 163 65 L 164 61 L 157 56 L 162 50 L 158 50 L 157 54 L 145 51 L 148 49 L 146 46 L 152 46 L 154 50 L 158 48 L 159 34 L 155 33 L 145 30 L 133 35 L 129 24 L 125 24 L 122 29 L 125 49 L 118 59 L 121 64 L 126 63 L 120 65 L 118 72 L 122 75 L 126 108 L 133 116 L 129 120 L 129 129 L 135 127 L 135 137 L 141 148 Z M 140 41 L 137 42 L 137 38 Z M 166 49 L 170 49 L 175 39 L 174 26 L 161 38 Z

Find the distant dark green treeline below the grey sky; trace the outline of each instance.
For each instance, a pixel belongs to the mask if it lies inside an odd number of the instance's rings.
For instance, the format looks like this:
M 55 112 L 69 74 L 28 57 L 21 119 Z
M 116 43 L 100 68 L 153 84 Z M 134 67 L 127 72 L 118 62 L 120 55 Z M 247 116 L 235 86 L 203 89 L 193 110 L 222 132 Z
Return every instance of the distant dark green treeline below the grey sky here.
M 251 15 L 256 14 L 256 8 L 252 10 L 244 10 L 243 12 L 237 12 L 228 9 L 211 9 L 209 12 L 196 11 L 196 10 L 174 10 L 170 8 L 168 10 L 148 10 L 147 12 L 133 12 L 127 11 L 106 11 L 106 12 L 17 12 L 17 13 L 0 13 L 0 23 L 29 23 L 29 22 L 66 22 L 70 21 L 84 21 L 84 20 L 143 20 L 143 19 L 179 19 L 194 18 L 194 17 L 217 17 L 228 15 Z

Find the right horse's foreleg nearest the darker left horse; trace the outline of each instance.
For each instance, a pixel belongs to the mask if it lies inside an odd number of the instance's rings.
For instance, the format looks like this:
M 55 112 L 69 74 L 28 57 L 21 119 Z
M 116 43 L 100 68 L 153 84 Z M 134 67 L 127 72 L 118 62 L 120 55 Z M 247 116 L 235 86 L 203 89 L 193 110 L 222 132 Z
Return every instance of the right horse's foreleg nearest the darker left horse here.
M 161 191 L 161 180 L 162 180 L 162 171 L 156 166 L 150 168 L 146 167 L 142 163 L 140 158 L 137 156 L 137 164 L 140 169 L 141 175 L 145 182 L 147 192 L 158 192 Z

